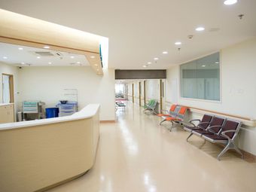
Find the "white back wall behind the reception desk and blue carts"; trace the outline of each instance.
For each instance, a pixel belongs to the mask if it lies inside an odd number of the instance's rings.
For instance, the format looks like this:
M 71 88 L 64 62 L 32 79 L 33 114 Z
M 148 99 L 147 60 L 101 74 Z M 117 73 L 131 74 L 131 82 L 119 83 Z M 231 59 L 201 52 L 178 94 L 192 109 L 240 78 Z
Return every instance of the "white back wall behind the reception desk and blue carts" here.
M 63 89 L 78 90 L 78 107 L 99 103 L 100 120 L 114 120 L 114 69 L 96 75 L 90 67 L 23 67 L 19 69 L 20 102 L 41 100 L 54 107 Z

